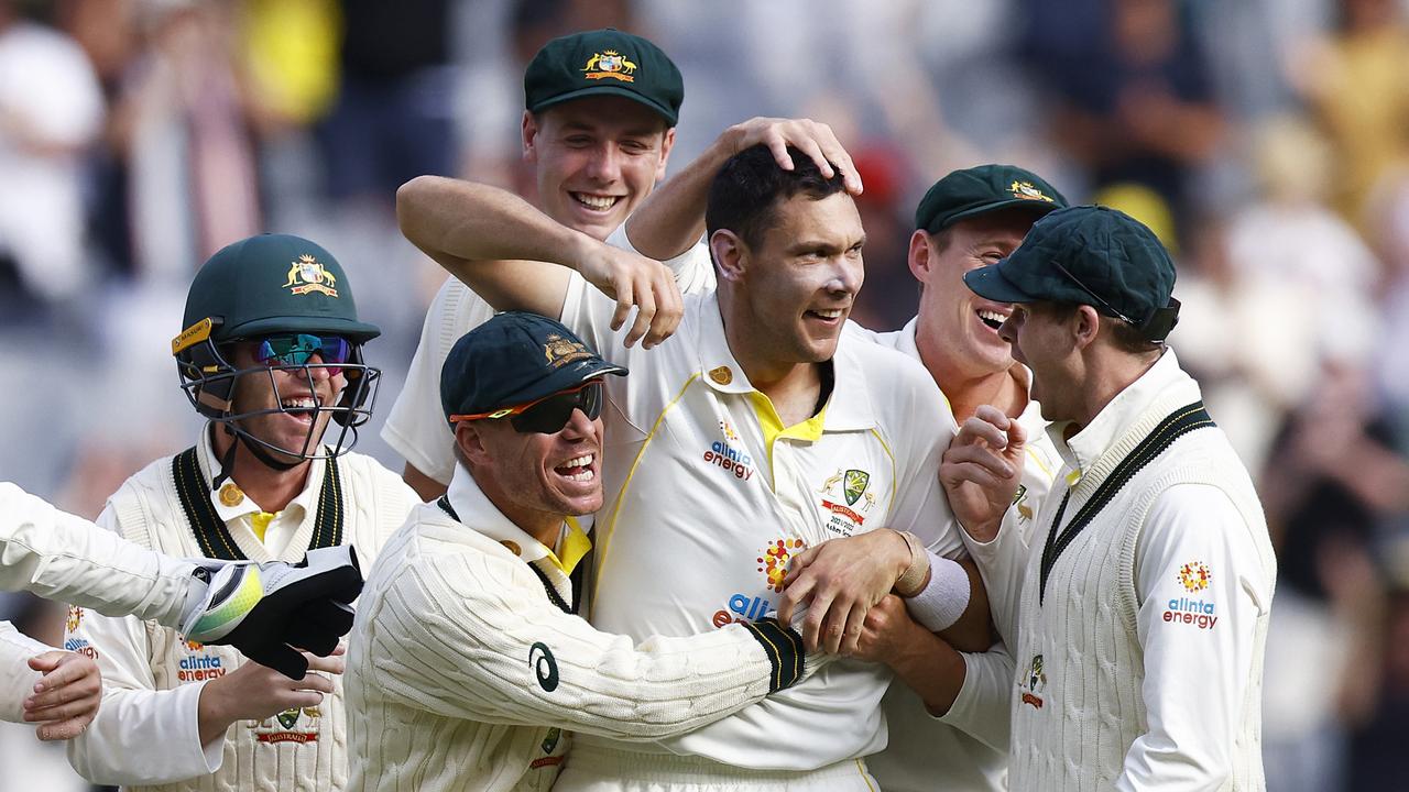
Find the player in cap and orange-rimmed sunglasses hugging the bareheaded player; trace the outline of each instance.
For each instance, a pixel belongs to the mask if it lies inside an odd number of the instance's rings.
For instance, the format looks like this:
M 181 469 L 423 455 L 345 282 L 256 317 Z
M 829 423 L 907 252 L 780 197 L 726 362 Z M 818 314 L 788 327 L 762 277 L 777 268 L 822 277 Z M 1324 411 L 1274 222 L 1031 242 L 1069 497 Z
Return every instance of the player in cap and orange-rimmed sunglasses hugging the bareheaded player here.
M 602 507 L 603 380 L 626 373 L 530 313 L 455 342 L 455 476 L 387 543 L 354 627 L 352 789 L 548 789 L 568 731 L 672 737 L 816 667 L 772 619 L 634 647 L 576 616 L 575 517 Z

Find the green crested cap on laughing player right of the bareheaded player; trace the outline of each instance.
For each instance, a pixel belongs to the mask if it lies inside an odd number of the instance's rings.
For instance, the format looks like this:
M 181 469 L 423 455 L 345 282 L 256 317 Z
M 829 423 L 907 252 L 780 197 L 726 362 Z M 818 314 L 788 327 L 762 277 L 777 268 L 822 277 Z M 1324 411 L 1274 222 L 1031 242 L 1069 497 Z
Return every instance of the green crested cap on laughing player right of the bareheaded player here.
M 934 183 L 914 210 L 914 227 L 936 234 L 968 217 L 1000 209 L 1033 210 L 1033 218 L 1067 207 L 1045 179 L 1016 165 L 978 165 L 952 171 Z

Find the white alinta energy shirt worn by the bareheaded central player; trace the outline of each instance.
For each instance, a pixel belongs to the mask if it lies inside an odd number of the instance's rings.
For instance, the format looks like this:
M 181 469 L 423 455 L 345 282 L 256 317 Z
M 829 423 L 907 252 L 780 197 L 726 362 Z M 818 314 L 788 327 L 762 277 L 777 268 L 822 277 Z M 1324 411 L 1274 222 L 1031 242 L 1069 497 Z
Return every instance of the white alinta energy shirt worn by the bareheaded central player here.
M 614 309 L 573 275 L 564 323 L 631 369 L 607 382 L 595 626 L 643 638 L 758 619 L 778 606 L 792 554 L 876 527 L 962 554 L 936 478 L 955 426 L 923 366 L 844 333 L 824 409 L 783 427 L 730 352 L 713 293 L 686 296 L 681 327 L 650 351 L 623 347 Z M 885 745 L 889 679 L 838 661 L 654 750 L 799 771 L 865 757 Z

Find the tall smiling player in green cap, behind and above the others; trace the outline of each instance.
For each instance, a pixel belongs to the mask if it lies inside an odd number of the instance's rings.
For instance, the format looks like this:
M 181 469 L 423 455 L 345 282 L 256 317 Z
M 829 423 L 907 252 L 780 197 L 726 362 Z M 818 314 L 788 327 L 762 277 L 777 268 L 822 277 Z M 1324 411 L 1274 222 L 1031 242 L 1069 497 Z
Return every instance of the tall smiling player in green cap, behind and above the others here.
M 548 217 L 595 240 L 620 238 L 621 223 L 665 178 L 675 123 L 685 97 L 681 72 L 650 41 L 617 30 L 555 38 L 524 70 L 523 156 L 533 163 L 537 206 Z M 830 173 L 837 162 L 848 189 L 861 182 L 851 159 L 821 124 L 755 118 L 727 130 L 702 159 L 719 162 L 754 144 L 788 144 L 814 152 Z M 672 273 L 682 292 L 714 287 L 709 252 L 685 249 L 651 268 L 657 285 Z M 493 309 L 449 278 L 426 314 L 420 345 L 382 428 L 406 458 L 404 478 L 423 499 L 445 493 L 455 471 L 455 440 L 440 420 L 441 364 L 457 338 Z

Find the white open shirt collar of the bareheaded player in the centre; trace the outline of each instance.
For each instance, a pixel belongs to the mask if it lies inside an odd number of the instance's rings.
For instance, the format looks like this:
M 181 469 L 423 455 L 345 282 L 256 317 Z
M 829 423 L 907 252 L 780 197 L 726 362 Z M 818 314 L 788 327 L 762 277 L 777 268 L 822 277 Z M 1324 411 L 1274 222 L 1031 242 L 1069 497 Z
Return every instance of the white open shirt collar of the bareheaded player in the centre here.
M 857 333 L 847 321 L 843 327 L 841 340 L 837 342 L 837 354 L 833 357 L 831 396 L 823 406 L 823 431 L 851 431 L 867 430 L 876 426 L 875 410 L 871 396 L 867 392 L 867 378 L 857 358 L 858 351 L 874 349 L 869 342 L 858 342 Z M 728 337 L 724 335 L 724 316 L 720 313 L 717 292 L 710 293 L 700 302 L 700 335 L 696 340 L 699 349 L 699 375 L 704 383 L 720 393 L 754 393 L 754 385 L 748 382 L 744 366 L 738 365 L 734 352 L 728 348 Z

